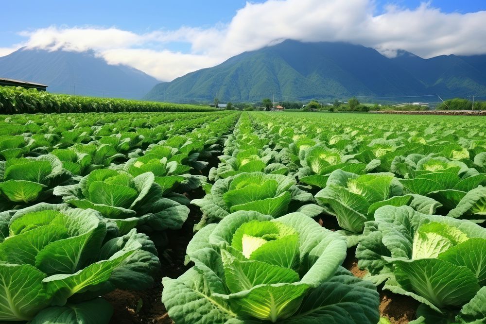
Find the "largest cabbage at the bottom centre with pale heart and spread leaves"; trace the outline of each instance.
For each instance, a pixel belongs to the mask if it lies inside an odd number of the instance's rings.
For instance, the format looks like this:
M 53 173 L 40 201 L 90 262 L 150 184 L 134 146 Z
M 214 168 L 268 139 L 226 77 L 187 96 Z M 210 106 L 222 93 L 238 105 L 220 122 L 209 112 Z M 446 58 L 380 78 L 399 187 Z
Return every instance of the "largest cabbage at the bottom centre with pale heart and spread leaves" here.
M 344 237 L 302 213 L 237 211 L 199 231 L 187 254 L 194 266 L 163 278 L 178 324 L 378 323 L 375 286 L 340 267 Z

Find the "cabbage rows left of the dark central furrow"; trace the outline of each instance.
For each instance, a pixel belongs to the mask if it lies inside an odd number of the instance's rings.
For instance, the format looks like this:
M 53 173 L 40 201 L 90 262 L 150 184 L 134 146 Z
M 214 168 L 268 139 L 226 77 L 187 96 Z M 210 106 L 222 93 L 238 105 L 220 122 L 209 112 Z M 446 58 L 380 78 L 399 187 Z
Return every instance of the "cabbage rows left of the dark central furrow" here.
M 146 289 L 182 195 L 237 114 L 15 115 L 1 123 L 0 320 L 108 323 Z M 156 242 L 156 244 L 154 243 Z

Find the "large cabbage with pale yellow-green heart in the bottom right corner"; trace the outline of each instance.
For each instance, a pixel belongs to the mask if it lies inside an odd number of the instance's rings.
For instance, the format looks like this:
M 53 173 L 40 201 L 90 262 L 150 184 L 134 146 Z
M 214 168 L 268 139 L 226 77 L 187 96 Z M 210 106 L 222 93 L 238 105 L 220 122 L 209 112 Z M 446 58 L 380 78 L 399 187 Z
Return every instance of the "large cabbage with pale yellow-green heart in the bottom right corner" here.
M 473 298 L 486 298 L 481 289 L 486 284 L 486 229 L 467 220 L 384 206 L 374 221 L 365 223 L 356 257 L 370 280 L 384 282 L 383 289 L 411 296 L 444 316 Z M 486 304 L 475 310 L 482 316 L 476 320 L 484 321 Z

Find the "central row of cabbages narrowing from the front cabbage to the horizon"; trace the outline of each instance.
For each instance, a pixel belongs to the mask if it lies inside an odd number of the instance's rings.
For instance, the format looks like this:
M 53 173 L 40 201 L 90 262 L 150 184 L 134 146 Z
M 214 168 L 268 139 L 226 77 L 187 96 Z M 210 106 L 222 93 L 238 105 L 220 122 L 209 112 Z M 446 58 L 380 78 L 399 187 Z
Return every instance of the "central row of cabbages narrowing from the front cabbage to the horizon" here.
M 191 203 L 202 221 L 188 245 L 194 266 L 163 279 L 175 323 L 372 323 L 376 287 L 341 267 L 343 235 L 312 219 L 323 208 L 297 186 L 267 136 L 243 114 L 228 136 L 213 185 Z

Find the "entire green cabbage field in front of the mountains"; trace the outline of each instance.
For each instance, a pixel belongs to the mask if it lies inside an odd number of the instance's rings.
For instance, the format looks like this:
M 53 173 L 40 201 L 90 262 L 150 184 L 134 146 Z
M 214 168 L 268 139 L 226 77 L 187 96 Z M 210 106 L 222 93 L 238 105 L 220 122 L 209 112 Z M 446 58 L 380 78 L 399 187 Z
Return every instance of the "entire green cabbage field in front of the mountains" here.
M 0 322 L 485 323 L 485 125 L 2 115 Z

